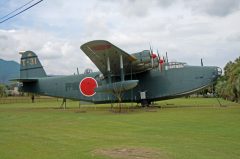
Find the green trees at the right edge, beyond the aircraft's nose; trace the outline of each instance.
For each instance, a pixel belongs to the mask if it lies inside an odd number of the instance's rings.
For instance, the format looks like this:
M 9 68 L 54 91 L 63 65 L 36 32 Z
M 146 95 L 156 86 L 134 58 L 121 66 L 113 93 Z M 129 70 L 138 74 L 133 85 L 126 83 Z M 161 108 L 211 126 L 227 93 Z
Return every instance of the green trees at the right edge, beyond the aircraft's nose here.
M 218 79 L 215 90 L 219 97 L 240 102 L 240 56 L 225 65 L 224 75 Z

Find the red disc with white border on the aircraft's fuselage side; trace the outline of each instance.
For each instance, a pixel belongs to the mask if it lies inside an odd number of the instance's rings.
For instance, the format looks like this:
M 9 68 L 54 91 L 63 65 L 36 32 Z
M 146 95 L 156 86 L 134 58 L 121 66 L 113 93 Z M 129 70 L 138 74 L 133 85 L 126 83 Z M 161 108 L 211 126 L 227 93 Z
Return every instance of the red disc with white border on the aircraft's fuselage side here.
M 94 89 L 98 86 L 97 81 L 92 77 L 85 77 L 79 84 L 80 92 L 87 97 L 93 96 Z

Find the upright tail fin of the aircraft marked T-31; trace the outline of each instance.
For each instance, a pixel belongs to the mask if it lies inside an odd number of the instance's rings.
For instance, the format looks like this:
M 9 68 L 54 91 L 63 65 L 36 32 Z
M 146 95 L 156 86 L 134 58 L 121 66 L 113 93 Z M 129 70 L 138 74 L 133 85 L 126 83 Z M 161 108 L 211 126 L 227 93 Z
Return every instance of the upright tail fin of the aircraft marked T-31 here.
M 20 79 L 46 77 L 37 55 L 32 51 L 21 52 Z

